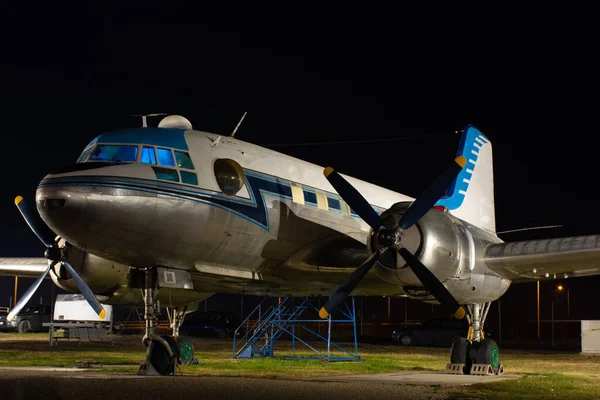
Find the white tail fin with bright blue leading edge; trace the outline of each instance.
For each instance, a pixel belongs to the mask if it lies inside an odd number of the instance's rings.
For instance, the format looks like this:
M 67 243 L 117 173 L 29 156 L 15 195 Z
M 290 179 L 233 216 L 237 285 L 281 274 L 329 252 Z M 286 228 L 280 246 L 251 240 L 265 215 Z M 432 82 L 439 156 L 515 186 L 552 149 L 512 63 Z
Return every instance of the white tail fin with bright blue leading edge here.
M 437 205 L 446 206 L 455 217 L 495 233 L 492 144 L 477 128 L 467 125 L 457 156 L 464 156 L 467 165 Z

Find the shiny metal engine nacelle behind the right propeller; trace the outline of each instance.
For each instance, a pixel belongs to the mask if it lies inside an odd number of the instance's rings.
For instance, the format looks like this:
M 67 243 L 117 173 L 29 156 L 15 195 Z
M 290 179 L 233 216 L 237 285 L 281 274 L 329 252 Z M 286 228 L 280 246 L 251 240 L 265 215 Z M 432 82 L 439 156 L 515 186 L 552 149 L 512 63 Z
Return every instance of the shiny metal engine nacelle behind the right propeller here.
M 411 203 L 396 203 L 381 214 L 384 224 L 397 224 Z M 413 253 L 461 304 L 484 303 L 500 297 L 510 281 L 490 271 L 483 263 L 484 250 L 490 243 L 501 242 L 495 235 L 464 222 L 451 214 L 430 210 L 417 224 L 403 231 L 402 246 Z M 371 233 L 369 250 L 378 246 Z M 406 261 L 397 254 L 394 265 L 391 252 L 375 264 L 379 277 L 403 287 L 412 298 L 435 301 Z

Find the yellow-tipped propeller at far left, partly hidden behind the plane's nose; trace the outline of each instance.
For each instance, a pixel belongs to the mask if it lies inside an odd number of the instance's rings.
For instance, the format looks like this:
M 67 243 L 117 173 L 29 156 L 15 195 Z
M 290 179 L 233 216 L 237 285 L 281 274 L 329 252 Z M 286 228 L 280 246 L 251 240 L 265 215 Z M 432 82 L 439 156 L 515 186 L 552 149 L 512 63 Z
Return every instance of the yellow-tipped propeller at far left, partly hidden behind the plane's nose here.
M 73 269 L 71 264 L 69 264 L 68 261 L 65 259 L 63 252 L 58 246 L 58 238 L 56 240 L 52 239 L 48 230 L 44 229 L 44 227 L 40 225 L 40 218 L 34 217 L 34 214 L 31 212 L 31 209 L 27 206 L 27 203 L 23 200 L 23 197 L 17 196 L 15 198 L 15 205 L 21 212 L 21 215 L 23 215 L 25 222 L 27 222 L 27 225 L 29 225 L 33 233 L 35 233 L 35 235 L 40 239 L 40 241 L 46 246 L 46 251 L 44 252 L 44 255 L 46 256 L 46 258 L 48 258 L 48 260 L 50 260 L 50 262 L 48 263 L 48 268 L 46 268 L 42 275 L 40 275 L 35 280 L 35 282 L 33 282 L 33 285 L 31 285 L 29 289 L 27 289 L 27 292 L 25 292 L 23 297 L 21 297 L 21 299 L 18 301 L 15 307 L 10 311 L 6 319 L 11 321 L 23 309 L 23 307 L 25 307 L 25 305 L 29 302 L 37 288 L 41 285 L 44 278 L 46 278 L 46 275 L 48 275 L 48 272 L 50 272 L 50 270 L 59 262 L 62 262 L 65 268 L 67 268 L 67 271 L 69 271 L 69 273 L 73 277 L 73 280 L 75 280 L 77 288 L 83 294 L 83 297 L 85 297 L 85 299 L 87 300 L 88 304 L 92 307 L 94 312 L 96 312 L 96 314 L 98 314 L 100 318 L 104 318 L 106 315 L 106 311 L 104 311 L 104 308 L 102 308 L 102 304 L 100 304 L 92 290 L 88 287 L 88 285 L 86 285 L 86 283 L 83 281 L 83 279 L 81 279 L 79 274 L 77 274 L 75 269 Z

